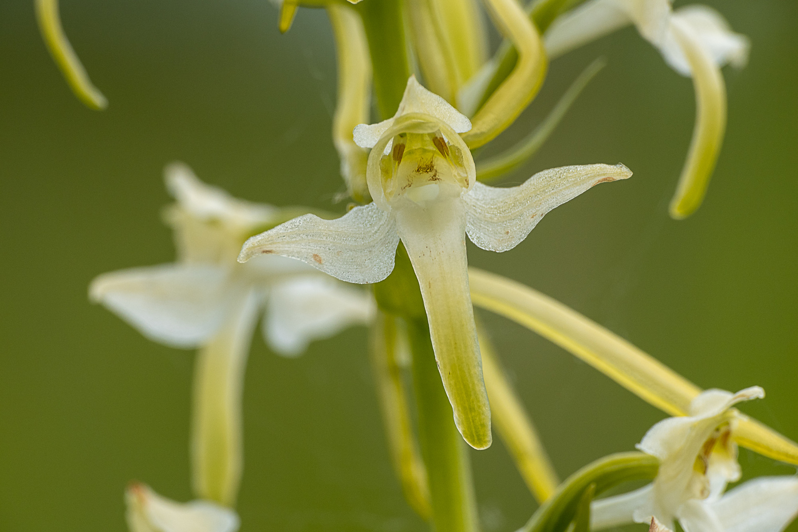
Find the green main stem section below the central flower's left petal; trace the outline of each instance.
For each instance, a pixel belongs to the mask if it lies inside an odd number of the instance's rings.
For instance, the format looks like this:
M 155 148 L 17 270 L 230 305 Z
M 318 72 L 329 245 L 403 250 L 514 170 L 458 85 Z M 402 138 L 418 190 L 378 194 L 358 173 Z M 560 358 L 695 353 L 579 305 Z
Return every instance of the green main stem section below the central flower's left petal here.
M 377 305 L 401 316 L 407 324 L 413 357 L 413 388 L 418 411 L 421 456 L 427 469 L 436 532 L 478 530 L 471 465 L 460 432 L 452 419 L 452 405 L 435 362 L 421 290 L 405 247 L 397 248 L 396 266 L 374 285 Z

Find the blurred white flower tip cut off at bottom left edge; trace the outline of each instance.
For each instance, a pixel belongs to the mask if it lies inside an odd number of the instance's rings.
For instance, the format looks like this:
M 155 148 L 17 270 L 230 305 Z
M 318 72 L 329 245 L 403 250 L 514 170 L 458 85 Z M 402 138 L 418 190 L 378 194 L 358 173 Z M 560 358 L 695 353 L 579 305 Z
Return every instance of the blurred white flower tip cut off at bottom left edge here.
M 185 504 L 161 497 L 150 487 L 135 483 L 125 493 L 130 532 L 235 532 L 239 516 L 208 501 Z

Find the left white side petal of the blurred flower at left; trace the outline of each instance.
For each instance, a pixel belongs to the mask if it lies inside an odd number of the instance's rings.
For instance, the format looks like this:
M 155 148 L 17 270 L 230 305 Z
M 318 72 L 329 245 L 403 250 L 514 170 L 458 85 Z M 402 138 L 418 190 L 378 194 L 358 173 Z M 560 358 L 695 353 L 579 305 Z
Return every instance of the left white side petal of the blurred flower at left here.
M 164 264 L 102 274 L 89 298 L 153 341 L 196 347 L 221 325 L 230 301 L 227 270 Z

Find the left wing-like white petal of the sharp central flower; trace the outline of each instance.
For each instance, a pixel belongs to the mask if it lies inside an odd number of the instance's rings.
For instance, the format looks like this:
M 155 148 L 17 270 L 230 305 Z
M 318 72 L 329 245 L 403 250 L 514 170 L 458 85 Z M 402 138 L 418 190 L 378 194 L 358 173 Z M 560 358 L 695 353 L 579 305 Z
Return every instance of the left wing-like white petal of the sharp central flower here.
M 346 282 L 380 282 L 393 270 L 399 235 L 393 219 L 374 203 L 341 218 L 304 215 L 244 242 L 239 262 L 258 254 L 298 258 Z

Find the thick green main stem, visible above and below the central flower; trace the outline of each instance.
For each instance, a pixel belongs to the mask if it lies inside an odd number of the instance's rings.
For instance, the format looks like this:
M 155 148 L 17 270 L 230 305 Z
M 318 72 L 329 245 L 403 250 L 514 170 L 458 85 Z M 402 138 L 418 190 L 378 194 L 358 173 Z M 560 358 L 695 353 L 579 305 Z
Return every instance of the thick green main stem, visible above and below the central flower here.
M 393 116 L 410 77 L 402 0 L 368 0 L 358 4 L 373 70 L 374 93 L 381 118 Z M 418 411 L 418 438 L 424 459 L 435 532 L 476 532 L 476 500 L 468 448 L 454 424 L 452 405 L 440 380 L 421 288 L 400 242 L 393 272 L 373 286 L 377 305 L 407 323 L 413 356 L 413 388 Z

